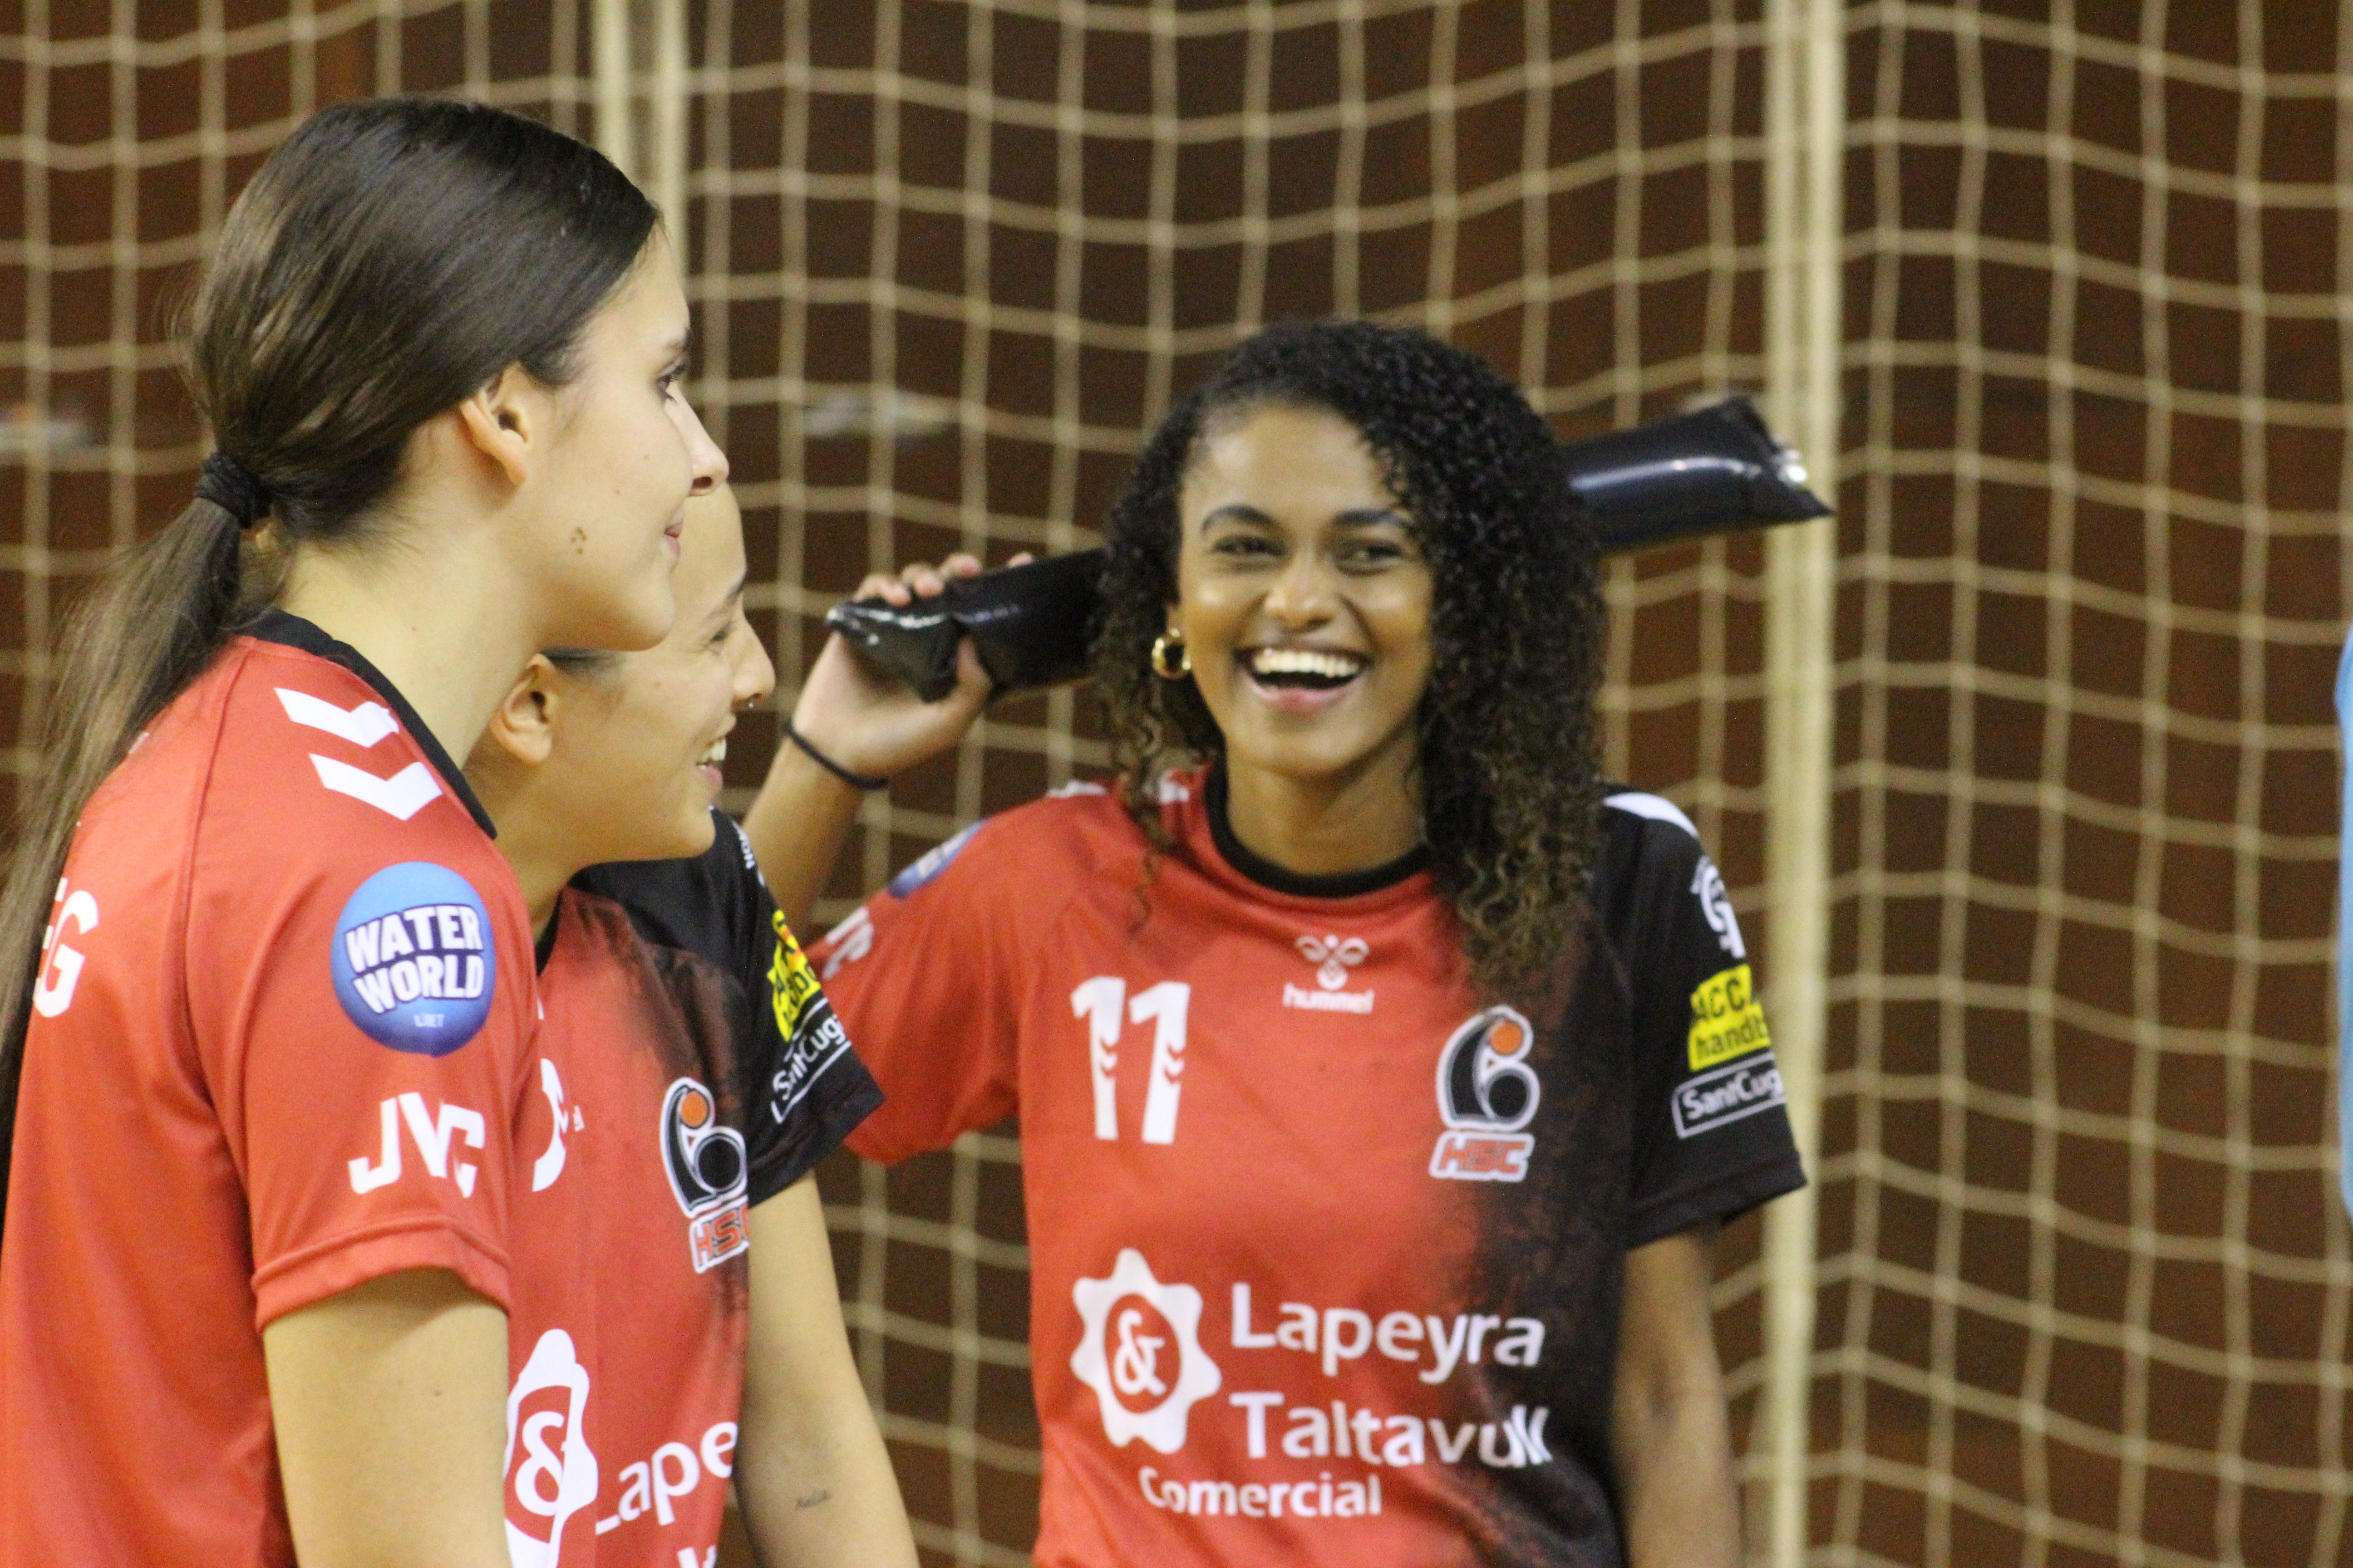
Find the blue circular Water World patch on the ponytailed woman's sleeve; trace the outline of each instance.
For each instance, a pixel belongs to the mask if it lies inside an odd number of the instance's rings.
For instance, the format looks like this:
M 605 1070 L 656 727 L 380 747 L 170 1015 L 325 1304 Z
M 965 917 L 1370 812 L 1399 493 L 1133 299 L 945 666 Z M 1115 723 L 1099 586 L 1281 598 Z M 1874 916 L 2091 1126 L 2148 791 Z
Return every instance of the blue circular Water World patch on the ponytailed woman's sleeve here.
M 376 1044 L 449 1056 L 499 987 L 489 910 L 447 865 L 405 860 L 360 884 L 334 922 L 334 997 Z

